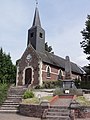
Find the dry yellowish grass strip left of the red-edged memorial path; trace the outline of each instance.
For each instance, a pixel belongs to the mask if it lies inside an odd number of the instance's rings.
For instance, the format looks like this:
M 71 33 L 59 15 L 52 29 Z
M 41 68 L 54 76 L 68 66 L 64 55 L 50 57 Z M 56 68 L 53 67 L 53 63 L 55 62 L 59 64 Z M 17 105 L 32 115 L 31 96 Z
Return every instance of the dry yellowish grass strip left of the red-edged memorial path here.
M 52 96 L 41 97 L 41 101 L 43 101 L 43 100 L 50 101 L 52 98 L 53 98 Z M 22 103 L 23 104 L 39 104 L 40 101 L 37 97 L 34 97 L 34 98 L 23 99 Z

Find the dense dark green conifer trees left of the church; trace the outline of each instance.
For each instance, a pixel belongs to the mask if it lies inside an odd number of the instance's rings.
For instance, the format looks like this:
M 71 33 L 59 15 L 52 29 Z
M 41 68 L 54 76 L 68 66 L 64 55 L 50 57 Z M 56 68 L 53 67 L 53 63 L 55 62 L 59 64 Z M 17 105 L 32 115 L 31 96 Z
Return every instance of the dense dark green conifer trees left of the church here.
M 3 52 L 0 49 L 0 82 L 10 83 L 15 81 L 16 66 L 11 61 L 10 54 Z

